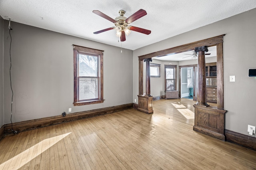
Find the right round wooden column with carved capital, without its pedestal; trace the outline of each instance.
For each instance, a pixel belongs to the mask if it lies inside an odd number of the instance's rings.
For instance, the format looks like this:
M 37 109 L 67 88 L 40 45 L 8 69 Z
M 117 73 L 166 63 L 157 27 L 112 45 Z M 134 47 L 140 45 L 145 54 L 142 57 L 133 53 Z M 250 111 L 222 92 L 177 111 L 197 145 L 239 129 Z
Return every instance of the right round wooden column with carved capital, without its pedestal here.
M 205 53 L 208 49 L 206 46 L 196 47 L 195 53 L 198 52 L 198 92 L 197 92 L 197 103 L 208 107 L 206 103 L 206 70 L 205 70 Z

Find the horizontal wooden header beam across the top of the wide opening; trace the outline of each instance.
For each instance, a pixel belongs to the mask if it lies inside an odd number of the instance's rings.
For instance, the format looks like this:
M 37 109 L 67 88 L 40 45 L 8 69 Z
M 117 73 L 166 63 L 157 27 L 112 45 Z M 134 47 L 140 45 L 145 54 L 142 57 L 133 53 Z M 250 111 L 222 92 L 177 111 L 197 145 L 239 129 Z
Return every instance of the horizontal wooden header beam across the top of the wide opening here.
M 154 53 L 141 55 L 141 56 L 139 56 L 139 60 L 146 59 L 146 58 L 152 58 L 152 57 L 162 57 L 164 55 L 171 54 L 171 53 L 175 54 L 175 53 L 182 53 L 185 51 L 191 51 L 191 50 L 194 50 L 194 48 L 196 48 L 196 47 L 202 47 L 202 46 L 211 47 L 211 46 L 216 45 L 217 43 L 222 43 L 223 36 L 225 36 L 225 34 L 216 36 L 216 37 L 212 37 L 212 38 L 208 38 L 205 40 L 200 40 L 197 42 L 187 43 L 187 44 L 180 45 L 177 47 L 172 47 L 169 49 L 164 49 L 164 50 L 157 51 Z

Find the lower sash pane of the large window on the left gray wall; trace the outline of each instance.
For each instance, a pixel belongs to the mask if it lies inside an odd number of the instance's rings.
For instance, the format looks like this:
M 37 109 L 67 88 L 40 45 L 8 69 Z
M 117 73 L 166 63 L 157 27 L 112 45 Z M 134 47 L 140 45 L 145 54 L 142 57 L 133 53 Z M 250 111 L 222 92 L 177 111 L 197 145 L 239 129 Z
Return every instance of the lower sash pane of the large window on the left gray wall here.
M 98 99 L 98 78 L 79 78 L 79 101 Z

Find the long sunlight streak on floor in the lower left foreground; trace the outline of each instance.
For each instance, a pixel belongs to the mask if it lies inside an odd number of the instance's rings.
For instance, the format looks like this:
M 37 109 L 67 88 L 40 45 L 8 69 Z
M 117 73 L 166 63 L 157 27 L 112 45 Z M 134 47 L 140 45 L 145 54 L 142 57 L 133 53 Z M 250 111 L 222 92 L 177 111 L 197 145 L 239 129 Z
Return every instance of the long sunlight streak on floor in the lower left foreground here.
M 24 166 L 30 160 L 36 158 L 36 156 L 46 151 L 48 148 L 56 144 L 58 141 L 62 140 L 64 137 L 68 136 L 70 133 L 71 132 L 42 140 L 38 144 L 35 144 L 34 146 L 28 148 L 27 150 L 21 152 L 20 154 L 2 163 L 0 165 L 0 169 L 1 170 L 3 169 L 18 170 L 18 168 Z M 49 144 L 49 145 L 46 145 L 46 144 Z M 34 152 L 34 148 L 37 148 L 37 152 Z

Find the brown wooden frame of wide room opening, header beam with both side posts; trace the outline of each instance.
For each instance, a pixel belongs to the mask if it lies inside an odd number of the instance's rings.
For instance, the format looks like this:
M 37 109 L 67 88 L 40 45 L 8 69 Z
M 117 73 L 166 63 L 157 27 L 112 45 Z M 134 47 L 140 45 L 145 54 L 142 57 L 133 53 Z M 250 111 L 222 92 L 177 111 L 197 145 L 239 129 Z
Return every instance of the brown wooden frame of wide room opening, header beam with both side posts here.
M 216 45 L 217 51 L 217 108 L 224 110 L 224 80 L 223 80 L 223 37 L 225 34 L 200 40 L 197 42 L 187 43 L 177 47 L 164 49 L 154 53 L 138 56 L 139 58 L 139 95 L 143 94 L 143 60 L 152 57 L 162 57 L 167 54 L 181 53 L 194 50 L 196 47 Z M 200 75 L 198 75 L 200 76 Z

